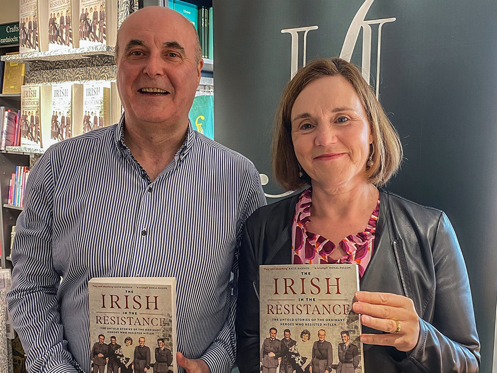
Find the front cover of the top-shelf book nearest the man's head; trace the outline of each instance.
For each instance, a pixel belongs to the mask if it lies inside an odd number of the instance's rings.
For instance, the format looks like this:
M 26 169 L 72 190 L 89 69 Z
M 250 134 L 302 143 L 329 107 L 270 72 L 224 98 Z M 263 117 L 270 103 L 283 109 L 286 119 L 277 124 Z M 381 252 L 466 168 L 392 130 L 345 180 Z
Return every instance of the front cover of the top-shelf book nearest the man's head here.
M 80 0 L 80 47 L 106 43 L 105 0 Z

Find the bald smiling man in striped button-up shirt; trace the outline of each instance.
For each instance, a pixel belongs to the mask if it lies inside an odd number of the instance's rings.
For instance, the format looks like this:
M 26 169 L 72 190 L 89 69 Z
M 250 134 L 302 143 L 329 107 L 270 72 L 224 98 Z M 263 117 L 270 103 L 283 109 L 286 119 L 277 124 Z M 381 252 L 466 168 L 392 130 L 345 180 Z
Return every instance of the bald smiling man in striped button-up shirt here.
M 89 371 L 90 278 L 175 276 L 176 363 L 230 372 L 235 253 L 265 203 L 259 174 L 188 121 L 203 61 L 185 17 L 147 6 L 116 45 L 121 120 L 53 145 L 26 185 L 8 302 L 28 371 Z

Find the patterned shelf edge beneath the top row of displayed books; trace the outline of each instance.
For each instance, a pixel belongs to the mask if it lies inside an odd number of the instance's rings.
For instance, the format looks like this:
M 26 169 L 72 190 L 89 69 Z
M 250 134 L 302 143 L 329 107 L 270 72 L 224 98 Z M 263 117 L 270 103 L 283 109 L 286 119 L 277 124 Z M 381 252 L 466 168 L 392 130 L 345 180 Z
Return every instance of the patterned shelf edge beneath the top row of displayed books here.
M 5 62 L 32 62 L 32 61 L 67 61 L 81 60 L 83 58 L 98 57 L 101 55 L 113 56 L 114 47 L 107 45 L 94 45 L 86 48 L 71 48 L 67 50 L 55 50 L 45 52 L 29 52 L 1 56 Z

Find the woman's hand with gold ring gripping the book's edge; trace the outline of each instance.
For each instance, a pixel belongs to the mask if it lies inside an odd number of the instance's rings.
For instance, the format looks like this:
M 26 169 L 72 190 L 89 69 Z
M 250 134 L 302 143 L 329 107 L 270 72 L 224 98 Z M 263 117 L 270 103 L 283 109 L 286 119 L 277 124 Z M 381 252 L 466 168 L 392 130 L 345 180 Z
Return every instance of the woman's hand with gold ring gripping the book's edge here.
M 390 334 L 361 334 L 362 343 L 393 346 L 410 352 L 419 338 L 419 316 L 410 298 L 381 292 L 357 291 L 352 309 L 361 314 L 361 323 Z

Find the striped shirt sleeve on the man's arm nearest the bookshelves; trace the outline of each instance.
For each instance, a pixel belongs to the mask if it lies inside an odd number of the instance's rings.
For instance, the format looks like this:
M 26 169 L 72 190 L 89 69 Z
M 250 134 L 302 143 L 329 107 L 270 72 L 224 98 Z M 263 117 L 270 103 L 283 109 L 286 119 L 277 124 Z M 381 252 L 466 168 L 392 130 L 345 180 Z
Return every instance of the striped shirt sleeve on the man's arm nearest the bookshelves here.
M 26 183 L 24 210 L 12 247 L 12 289 L 7 293 L 14 329 L 27 354 L 29 372 L 81 372 L 67 349 L 52 261 L 54 178 L 48 151 Z

